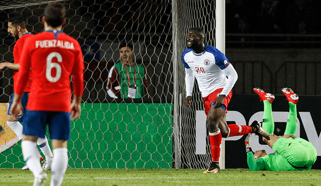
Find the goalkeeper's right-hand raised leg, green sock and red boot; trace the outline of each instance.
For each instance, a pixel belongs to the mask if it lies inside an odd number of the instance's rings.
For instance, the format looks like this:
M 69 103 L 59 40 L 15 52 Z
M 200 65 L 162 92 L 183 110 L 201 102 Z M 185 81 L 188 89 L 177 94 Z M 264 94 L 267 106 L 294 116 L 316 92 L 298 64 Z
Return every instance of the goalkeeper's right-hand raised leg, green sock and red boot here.
M 282 92 L 286 96 L 286 99 L 288 100 L 290 107 L 284 135 L 294 135 L 297 129 L 296 103 L 299 97 L 290 88 L 282 88 Z

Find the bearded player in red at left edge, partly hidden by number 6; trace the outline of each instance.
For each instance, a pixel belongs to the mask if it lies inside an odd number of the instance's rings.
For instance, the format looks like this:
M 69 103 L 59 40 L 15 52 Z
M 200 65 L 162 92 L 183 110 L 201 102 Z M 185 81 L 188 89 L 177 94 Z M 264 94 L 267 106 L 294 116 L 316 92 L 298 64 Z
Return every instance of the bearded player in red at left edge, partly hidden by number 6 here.
M 8 19 L 8 32 L 10 33 L 10 35 L 18 39 L 14 47 L 14 63 L 9 63 L 9 62 L 0 63 L 0 71 L 3 70 L 4 68 L 10 68 L 14 70 L 14 94 L 11 97 L 11 101 L 8 109 L 9 111 L 7 115 L 7 124 L 16 133 L 19 140 L 22 139 L 22 130 L 23 130 L 23 126 L 20 122 L 23 122 L 24 117 L 23 115 L 19 116 L 19 118 L 12 116 L 10 114 L 10 107 L 13 103 L 15 92 L 17 89 L 17 78 L 18 78 L 18 73 L 20 68 L 19 60 L 22 54 L 22 49 L 27 38 L 32 36 L 32 34 L 28 32 L 26 28 L 26 24 L 27 24 L 27 20 L 24 18 L 23 15 L 21 14 L 10 15 Z M 31 88 L 31 82 L 32 82 L 32 76 L 29 76 L 29 78 L 27 79 L 27 85 L 23 90 L 24 92 L 22 97 L 23 114 L 26 113 L 26 105 L 28 102 L 28 95 Z M 44 136 L 44 138 L 39 138 L 37 141 L 37 144 L 39 145 L 41 151 L 46 156 L 46 161 L 43 164 L 43 169 L 50 170 L 53 154 L 48 144 L 47 137 Z M 40 156 L 39 158 L 41 158 L 40 160 L 42 161 L 43 157 Z M 22 169 L 27 170 L 28 166 L 26 165 Z

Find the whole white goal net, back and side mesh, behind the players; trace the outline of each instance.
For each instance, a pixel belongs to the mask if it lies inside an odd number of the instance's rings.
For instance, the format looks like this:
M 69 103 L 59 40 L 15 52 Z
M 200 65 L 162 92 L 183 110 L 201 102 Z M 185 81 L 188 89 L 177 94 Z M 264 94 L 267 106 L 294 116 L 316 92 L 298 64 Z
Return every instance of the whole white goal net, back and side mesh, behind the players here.
M 1 62 L 14 62 L 16 39 L 7 32 L 8 16 L 22 13 L 28 31 L 40 33 L 48 2 L 57 1 L 0 3 Z M 185 106 L 181 54 L 190 27 L 204 28 L 207 44 L 214 45 L 214 1 L 73 0 L 63 4 L 67 10 L 63 32 L 80 43 L 85 61 L 82 115 L 71 124 L 69 167 L 206 168 L 209 150 L 196 153 L 195 113 L 204 110 L 203 102 L 195 85 L 194 107 Z M 135 63 L 146 69 L 148 98 L 114 99 L 107 93 L 108 74 L 120 61 L 118 45 L 123 41 L 133 44 Z M 0 167 L 24 165 L 21 143 L 6 123 L 13 85 L 13 70 L 0 72 Z

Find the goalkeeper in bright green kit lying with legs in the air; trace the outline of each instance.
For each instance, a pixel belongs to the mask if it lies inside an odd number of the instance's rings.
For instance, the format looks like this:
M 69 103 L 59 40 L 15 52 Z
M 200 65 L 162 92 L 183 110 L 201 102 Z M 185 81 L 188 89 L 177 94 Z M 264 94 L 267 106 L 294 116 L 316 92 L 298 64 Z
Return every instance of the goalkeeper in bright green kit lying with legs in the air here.
M 250 170 L 309 170 L 316 161 L 317 153 L 312 143 L 294 136 L 297 128 L 297 94 L 290 88 L 282 89 L 282 92 L 289 101 L 290 110 L 284 135 L 280 137 L 273 134 L 274 120 L 271 106 L 274 100 L 273 94 L 265 93 L 259 88 L 254 88 L 253 90 L 260 96 L 261 101 L 263 101 L 264 114 L 262 127 L 269 132 L 271 137 L 270 140 L 263 137 L 263 141 L 275 152 L 266 154 L 265 150 L 258 150 L 253 154 L 250 141 L 252 134 L 248 134 L 245 139 L 245 146 L 247 164 Z

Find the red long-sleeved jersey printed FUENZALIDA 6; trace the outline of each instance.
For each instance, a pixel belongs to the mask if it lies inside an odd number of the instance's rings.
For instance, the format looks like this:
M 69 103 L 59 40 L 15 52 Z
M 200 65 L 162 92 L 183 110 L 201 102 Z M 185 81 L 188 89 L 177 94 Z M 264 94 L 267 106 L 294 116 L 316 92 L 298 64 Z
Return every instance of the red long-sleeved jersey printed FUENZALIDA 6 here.
M 70 112 L 70 76 L 76 96 L 81 96 L 84 88 L 84 61 L 77 40 L 61 31 L 29 37 L 20 59 L 17 94 L 23 93 L 30 68 L 33 81 L 27 109 Z

